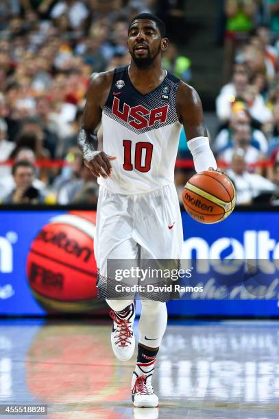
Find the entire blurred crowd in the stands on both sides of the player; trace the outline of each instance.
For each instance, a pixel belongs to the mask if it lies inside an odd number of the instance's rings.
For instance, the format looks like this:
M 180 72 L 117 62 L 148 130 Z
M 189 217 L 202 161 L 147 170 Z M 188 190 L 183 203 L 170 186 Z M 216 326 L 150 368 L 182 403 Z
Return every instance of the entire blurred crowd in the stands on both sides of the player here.
M 237 203 L 276 205 L 279 0 L 221 4 L 226 84 L 217 97 L 219 128 L 217 135 L 209 133 L 210 142 L 234 181 Z M 128 23 L 144 11 L 167 25 L 171 43 L 163 66 L 191 83 L 191 60 L 178 47 L 184 1 L 0 1 L 2 203 L 97 203 L 96 179 L 76 146 L 86 90 L 92 73 L 130 62 Z M 191 159 L 183 130 L 178 158 Z M 175 170 L 179 194 L 193 173 L 186 166 Z

